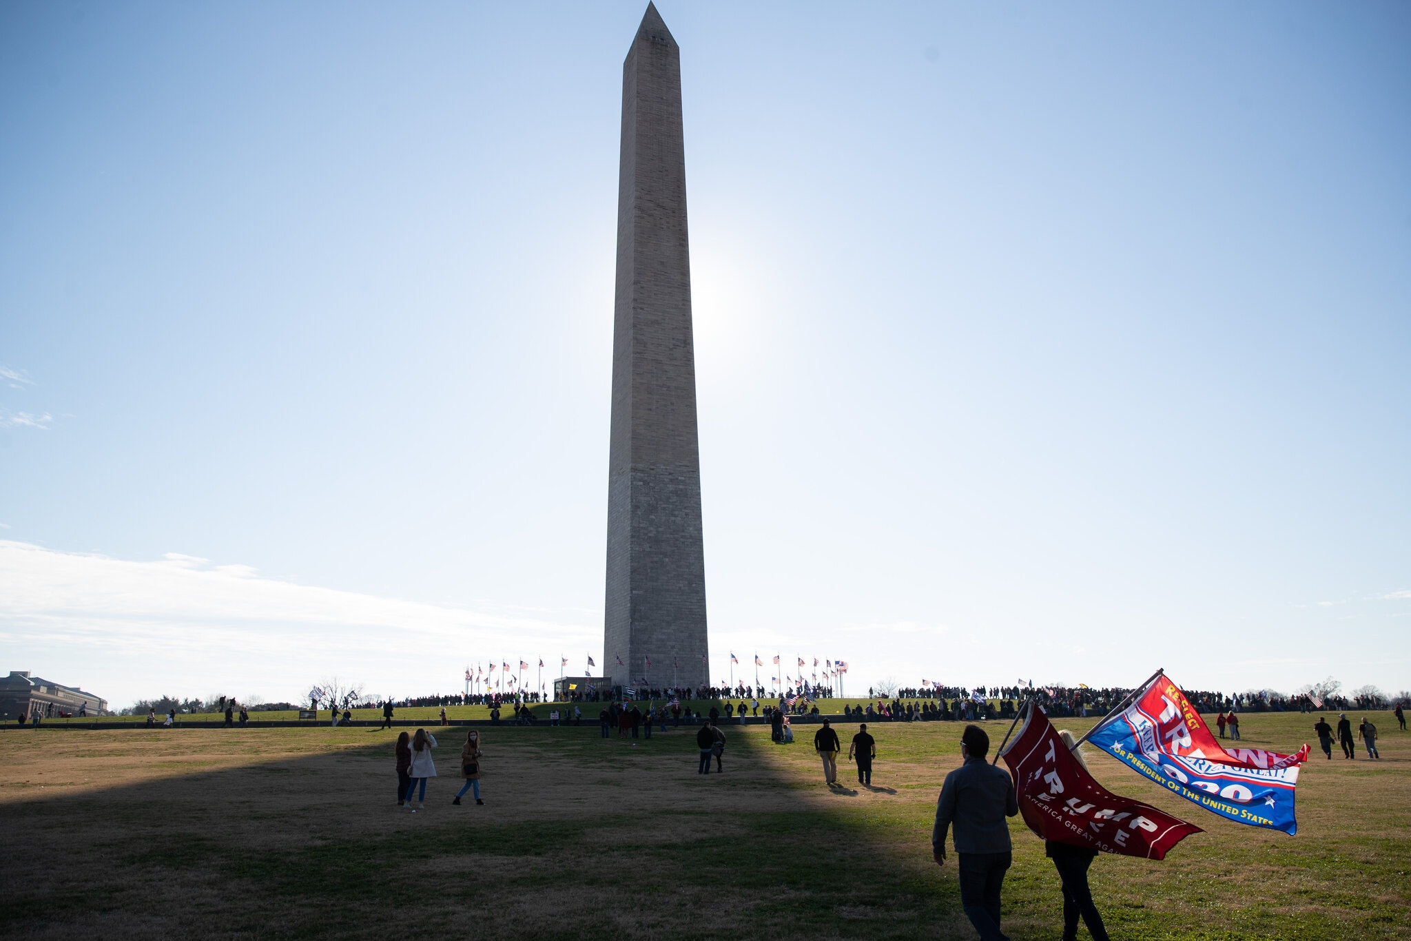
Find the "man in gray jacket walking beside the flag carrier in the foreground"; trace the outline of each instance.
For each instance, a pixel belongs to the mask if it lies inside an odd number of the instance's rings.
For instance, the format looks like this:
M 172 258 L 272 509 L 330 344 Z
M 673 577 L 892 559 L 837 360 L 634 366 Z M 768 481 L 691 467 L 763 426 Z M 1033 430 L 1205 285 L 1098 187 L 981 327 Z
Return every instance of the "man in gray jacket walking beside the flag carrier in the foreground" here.
M 935 801 L 931 855 L 937 866 L 945 865 L 945 831 L 955 824 L 961 907 L 981 941 L 1009 941 L 999 930 L 999 890 L 1012 862 L 1005 817 L 1019 813 L 1019 800 L 1009 772 L 989 765 L 986 752 L 989 735 L 978 725 L 967 725 L 961 732 L 965 763 L 945 776 Z

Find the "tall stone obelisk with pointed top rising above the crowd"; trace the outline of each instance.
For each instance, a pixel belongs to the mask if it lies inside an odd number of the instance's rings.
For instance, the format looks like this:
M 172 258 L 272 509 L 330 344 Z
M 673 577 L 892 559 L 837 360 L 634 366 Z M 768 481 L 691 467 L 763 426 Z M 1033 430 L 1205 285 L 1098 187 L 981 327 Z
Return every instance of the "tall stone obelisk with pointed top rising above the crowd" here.
M 680 48 L 648 4 L 622 63 L 602 673 L 708 683 Z

